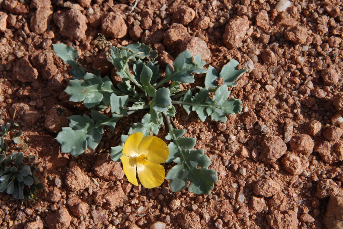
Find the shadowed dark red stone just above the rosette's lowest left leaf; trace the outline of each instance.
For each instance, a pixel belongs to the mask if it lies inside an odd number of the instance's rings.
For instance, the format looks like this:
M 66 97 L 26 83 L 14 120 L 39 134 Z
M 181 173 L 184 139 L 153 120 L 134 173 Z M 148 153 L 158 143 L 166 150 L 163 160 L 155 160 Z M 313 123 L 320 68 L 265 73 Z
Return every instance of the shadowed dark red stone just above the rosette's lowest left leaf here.
M 72 113 L 67 108 L 55 105 L 46 116 L 44 126 L 51 132 L 59 133 L 62 130 L 62 127 L 68 126 L 68 117 L 71 115 Z

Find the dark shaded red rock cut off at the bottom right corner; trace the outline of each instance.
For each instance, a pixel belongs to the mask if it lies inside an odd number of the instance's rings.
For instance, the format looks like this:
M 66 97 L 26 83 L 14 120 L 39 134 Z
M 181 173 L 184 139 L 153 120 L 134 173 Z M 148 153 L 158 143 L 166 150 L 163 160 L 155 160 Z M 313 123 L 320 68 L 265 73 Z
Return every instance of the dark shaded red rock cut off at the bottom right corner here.
M 343 228 L 343 196 L 331 196 L 323 217 L 327 229 Z

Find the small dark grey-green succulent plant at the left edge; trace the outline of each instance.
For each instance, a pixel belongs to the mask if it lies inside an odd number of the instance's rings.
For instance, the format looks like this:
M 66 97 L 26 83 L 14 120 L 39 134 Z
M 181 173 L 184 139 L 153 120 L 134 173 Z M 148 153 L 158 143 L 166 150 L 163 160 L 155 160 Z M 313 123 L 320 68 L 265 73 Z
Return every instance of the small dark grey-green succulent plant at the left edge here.
M 35 172 L 29 165 L 22 164 L 25 158 L 22 152 L 0 154 L 0 193 L 6 192 L 15 199 L 34 200 L 37 190 L 43 188 Z

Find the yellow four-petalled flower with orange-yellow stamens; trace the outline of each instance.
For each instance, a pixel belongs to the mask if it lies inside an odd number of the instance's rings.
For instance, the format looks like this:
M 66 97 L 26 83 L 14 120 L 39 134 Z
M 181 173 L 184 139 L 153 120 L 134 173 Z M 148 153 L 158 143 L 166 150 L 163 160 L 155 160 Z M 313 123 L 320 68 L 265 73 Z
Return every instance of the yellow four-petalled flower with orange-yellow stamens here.
M 123 155 L 120 157 L 123 170 L 129 182 L 138 185 L 136 170 L 141 184 L 145 188 L 161 185 L 165 178 L 165 170 L 161 163 L 169 156 L 167 144 L 155 136 L 134 133 L 126 140 Z

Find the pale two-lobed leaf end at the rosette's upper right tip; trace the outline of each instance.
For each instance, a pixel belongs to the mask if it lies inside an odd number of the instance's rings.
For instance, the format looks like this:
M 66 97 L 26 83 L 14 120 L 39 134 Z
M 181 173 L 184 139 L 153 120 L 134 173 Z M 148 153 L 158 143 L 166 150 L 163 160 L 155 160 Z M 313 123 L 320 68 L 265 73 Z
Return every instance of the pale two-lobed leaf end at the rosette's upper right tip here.
M 222 78 L 227 85 L 227 87 L 233 88 L 237 85 L 236 81 L 243 73 L 247 72 L 248 69 L 237 69 L 239 62 L 234 59 L 230 59 L 229 62 L 223 66 L 219 73 L 211 65 L 209 66 L 209 71 L 206 73 L 205 77 L 205 87 L 207 88 L 218 88 L 216 80 Z

